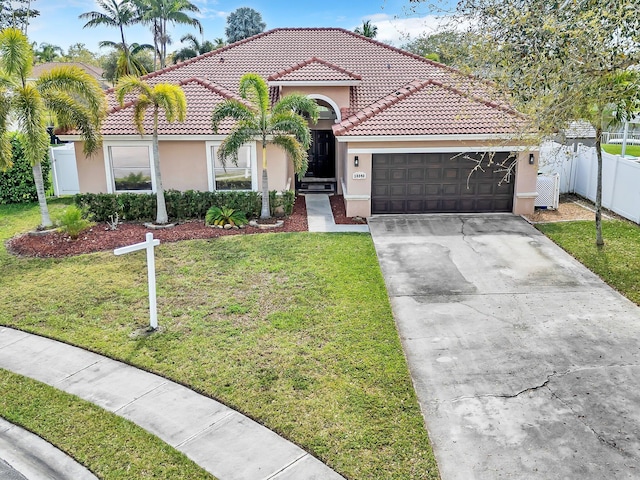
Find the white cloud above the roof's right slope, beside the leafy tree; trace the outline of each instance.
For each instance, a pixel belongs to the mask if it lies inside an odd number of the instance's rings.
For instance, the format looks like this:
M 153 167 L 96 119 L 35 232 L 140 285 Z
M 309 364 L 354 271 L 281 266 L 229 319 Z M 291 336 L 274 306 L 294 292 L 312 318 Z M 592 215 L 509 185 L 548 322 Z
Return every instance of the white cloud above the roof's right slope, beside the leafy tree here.
M 364 16 L 362 20 L 370 20 L 378 27 L 376 40 L 400 46 L 419 36 L 437 33 L 444 29 L 451 18 L 436 15 L 401 18 L 385 13 L 376 13 Z

